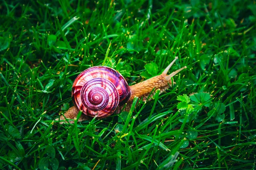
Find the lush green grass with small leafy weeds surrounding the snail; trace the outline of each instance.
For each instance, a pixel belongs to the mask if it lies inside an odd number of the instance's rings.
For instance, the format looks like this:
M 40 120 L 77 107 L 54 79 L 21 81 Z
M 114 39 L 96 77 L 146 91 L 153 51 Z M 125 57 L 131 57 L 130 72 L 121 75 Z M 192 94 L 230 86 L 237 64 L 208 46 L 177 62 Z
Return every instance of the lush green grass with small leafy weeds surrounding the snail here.
M 255 54 L 254 0 L 3 0 L 0 169 L 253 170 Z M 176 56 L 177 84 L 134 111 L 54 121 L 81 71 L 133 85 Z

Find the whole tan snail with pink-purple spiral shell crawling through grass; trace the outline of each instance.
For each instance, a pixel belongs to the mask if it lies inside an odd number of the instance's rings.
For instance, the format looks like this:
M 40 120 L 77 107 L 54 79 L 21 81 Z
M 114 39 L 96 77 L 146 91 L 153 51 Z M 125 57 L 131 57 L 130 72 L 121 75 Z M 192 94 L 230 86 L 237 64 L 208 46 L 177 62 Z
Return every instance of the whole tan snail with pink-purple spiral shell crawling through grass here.
M 163 93 L 172 86 L 172 77 L 186 68 L 180 68 L 177 71 L 167 75 L 167 72 L 178 57 L 168 65 L 162 74 L 147 79 L 143 82 L 129 86 L 124 77 L 113 68 L 106 66 L 94 66 L 81 72 L 73 83 L 72 100 L 74 106 L 55 120 L 76 119 L 79 111 L 81 114 L 78 122 L 88 120 L 96 116 L 96 119 L 102 119 L 110 116 L 112 113 L 122 111 L 125 103 L 127 104 L 124 111 L 129 111 L 134 97 L 143 98 L 145 101 L 151 91 L 160 89 Z M 73 120 L 69 120 L 74 123 Z M 60 121 L 64 123 L 64 121 Z

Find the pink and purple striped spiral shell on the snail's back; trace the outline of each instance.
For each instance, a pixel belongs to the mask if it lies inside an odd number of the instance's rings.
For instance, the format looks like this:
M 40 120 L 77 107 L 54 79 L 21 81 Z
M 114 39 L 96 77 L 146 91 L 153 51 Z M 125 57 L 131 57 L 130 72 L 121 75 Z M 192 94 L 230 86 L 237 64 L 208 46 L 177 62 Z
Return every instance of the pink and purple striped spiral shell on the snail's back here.
M 102 119 L 110 116 L 118 105 L 125 104 L 131 90 L 122 75 L 105 66 L 81 72 L 72 87 L 75 107 L 86 116 Z

